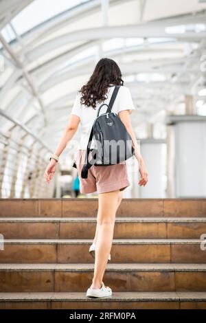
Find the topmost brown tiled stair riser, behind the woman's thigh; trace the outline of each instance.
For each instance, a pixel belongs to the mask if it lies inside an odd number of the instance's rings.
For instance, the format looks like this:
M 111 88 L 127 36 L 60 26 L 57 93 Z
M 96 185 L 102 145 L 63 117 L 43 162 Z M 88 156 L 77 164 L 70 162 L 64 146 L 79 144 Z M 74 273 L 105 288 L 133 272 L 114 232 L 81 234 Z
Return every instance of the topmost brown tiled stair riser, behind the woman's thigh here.
M 96 216 L 98 199 L 1 199 L 0 216 Z M 123 199 L 117 216 L 205 217 L 206 199 Z

